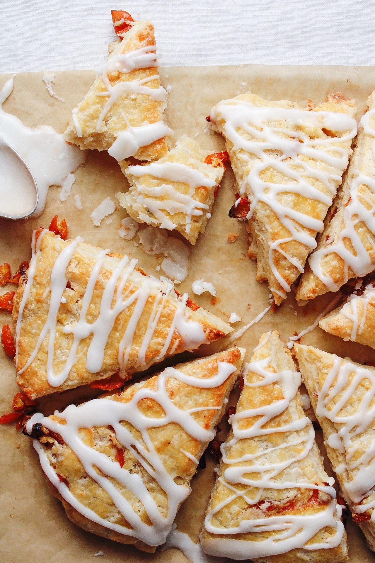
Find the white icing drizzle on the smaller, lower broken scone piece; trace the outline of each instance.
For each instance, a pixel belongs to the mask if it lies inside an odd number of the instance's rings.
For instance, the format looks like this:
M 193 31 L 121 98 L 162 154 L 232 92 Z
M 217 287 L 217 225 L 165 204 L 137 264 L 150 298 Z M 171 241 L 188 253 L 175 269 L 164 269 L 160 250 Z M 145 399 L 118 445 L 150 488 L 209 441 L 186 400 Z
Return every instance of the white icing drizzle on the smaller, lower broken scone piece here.
M 137 202 L 150 209 L 157 221 L 160 222 L 161 229 L 173 230 L 177 225 L 163 213 L 170 215 L 184 213 L 186 215 L 186 232 L 191 230 L 192 216 L 202 216 L 204 210 L 210 208 L 205 203 L 198 202 L 193 195 L 197 187 L 214 187 L 216 182 L 204 175 L 204 173 L 178 162 L 151 163 L 145 166 L 129 166 L 126 175 L 142 177 L 150 175 L 155 178 L 165 180 L 159 186 L 137 185 Z M 180 182 L 189 186 L 187 194 L 183 194 L 173 185 L 167 182 Z M 158 199 L 162 198 L 162 199 Z M 152 218 L 147 216 L 147 222 L 152 222 Z M 153 222 L 157 222 L 153 221 Z

